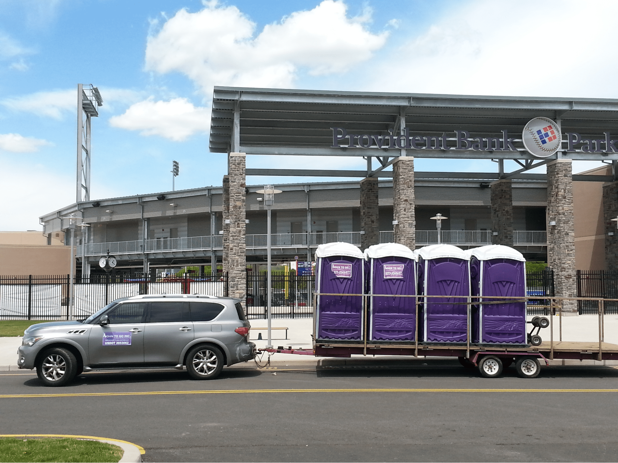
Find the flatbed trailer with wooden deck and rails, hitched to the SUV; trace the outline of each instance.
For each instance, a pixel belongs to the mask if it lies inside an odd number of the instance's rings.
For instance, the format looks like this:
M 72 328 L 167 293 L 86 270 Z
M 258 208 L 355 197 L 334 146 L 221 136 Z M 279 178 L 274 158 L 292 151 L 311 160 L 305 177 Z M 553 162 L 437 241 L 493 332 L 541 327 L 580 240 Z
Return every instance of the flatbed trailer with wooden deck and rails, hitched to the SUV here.
M 322 294 L 315 294 L 320 296 Z M 353 295 L 360 294 L 323 294 L 334 295 Z M 369 297 L 362 294 L 363 297 Z M 419 299 L 422 296 L 417 296 Z M 427 296 L 424 296 L 427 297 Z M 431 297 L 431 296 L 430 296 Z M 442 297 L 442 296 L 437 296 Z M 473 304 L 483 304 L 482 301 L 470 300 L 466 302 L 468 306 Z M 504 302 L 512 302 L 513 298 L 502 298 Z M 413 357 L 457 357 L 464 367 L 478 368 L 481 375 L 486 378 L 493 378 L 501 375 L 502 369 L 513 363 L 517 373 L 524 378 L 535 378 L 540 373 L 540 361 L 549 365 L 550 360 L 569 359 L 569 360 L 618 360 L 618 344 L 606 343 L 604 341 L 604 306 L 607 301 L 618 301 L 618 299 L 599 299 L 599 298 L 542 298 L 528 297 L 528 301 L 548 301 L 547 306 L 533 305 L 535 309 L 546 308 L 549 312 L 550 339 L 543 341 L 539 345 L 530 344 L 473 344 L 467 343 L 423 343 L 417 341 L 367 341 L 366 323 L 365 340 L 320 340 L 316 339 L 316 317 L 314 313 L 313 324 L 313 349 L 260 349 L 265 352 L 279 352 L 282 354 L 313 355 L 316 357 L 350 357 L 352 355 L 362 356 L 413 356 Z M 562 301 L 567 300 L 586 300 L 596 301 L 598 306 L 598 342 L 596 341 L 563 341 L 562 340 Z M 496 303 L 493 298 L 491 303 Z M 417 308 L 420 302 L 417 302 Z M 366 307 L 366 304 L 363 304 Z M 314 307 L 317 307 L 314 303 Z M 315 309 L 314 309 L 315 310 Z M 364 309 L 363 309 L 364 311 Z M 364 311 L 366 322 L 366 311 Z M 468 320 L 470 311 L 468 311 Z M 554 341 L 554 317 L 559 315 L 559 340 Z M 418 309 L 417 309 L 418 317 Z M 530 322 L 528 322 L 530 323 Z M 468 340 L 470 339 L 470 323 L 468 322 Z M 537 331 L 538 333 L 538 331 Z

